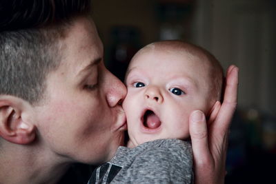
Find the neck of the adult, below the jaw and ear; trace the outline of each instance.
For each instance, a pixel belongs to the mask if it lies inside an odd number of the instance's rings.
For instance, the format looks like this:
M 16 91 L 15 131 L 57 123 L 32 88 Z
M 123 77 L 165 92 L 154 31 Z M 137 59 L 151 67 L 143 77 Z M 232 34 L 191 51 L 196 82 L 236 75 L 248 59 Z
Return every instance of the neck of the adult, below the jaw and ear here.
M 0 145 L 0 183 L 57 183 L 68 166 L 32 145 Z

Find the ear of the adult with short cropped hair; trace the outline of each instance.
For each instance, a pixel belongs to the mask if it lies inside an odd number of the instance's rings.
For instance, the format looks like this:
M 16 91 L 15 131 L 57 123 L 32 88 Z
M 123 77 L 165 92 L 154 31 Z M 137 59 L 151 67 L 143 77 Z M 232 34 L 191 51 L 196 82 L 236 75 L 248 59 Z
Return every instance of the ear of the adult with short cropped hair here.
M 30 144 L 35 139 L 35 126 L 30 119 L 30 103 L 15 96 L 0 96 L 0 136 L 16 144 Z

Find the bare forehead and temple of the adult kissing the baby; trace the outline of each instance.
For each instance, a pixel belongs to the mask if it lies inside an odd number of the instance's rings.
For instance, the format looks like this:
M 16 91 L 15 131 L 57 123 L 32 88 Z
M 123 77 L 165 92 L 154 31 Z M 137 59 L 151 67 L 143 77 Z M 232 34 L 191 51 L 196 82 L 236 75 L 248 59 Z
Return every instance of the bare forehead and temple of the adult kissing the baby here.
M 67 28 L 66 38 L 61 41 L 62 63 L 74 63 L 75 71 L 83 70 L 91 61 L 101 59 L 103 45 L 92 20 L 78 17 Z

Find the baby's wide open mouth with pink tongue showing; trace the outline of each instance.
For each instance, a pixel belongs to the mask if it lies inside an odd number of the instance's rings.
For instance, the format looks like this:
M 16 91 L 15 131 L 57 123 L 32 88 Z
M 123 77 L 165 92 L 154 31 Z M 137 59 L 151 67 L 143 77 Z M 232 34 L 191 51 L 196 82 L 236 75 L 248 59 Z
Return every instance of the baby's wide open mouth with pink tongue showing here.
M 152 110 L 146 110 L 142 120 L 144 127 L 149 129 L 155 129 L 161 125 L 159 117 Z

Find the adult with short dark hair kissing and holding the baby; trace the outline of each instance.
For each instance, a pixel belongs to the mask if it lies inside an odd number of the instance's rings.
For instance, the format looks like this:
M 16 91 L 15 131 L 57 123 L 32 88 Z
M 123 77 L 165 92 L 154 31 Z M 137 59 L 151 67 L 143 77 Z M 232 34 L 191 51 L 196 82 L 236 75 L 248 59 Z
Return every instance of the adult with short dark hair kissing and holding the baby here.
M 126 88 L 103 65 L 90 0 L 2 0 L 0 10 L 0 183 L 57 183 L 71 163 L 110 159 L 124 140 Z M 223 182 L 235 66 L 226 84 L 208 134 L 191 114 L 197 183 Z

